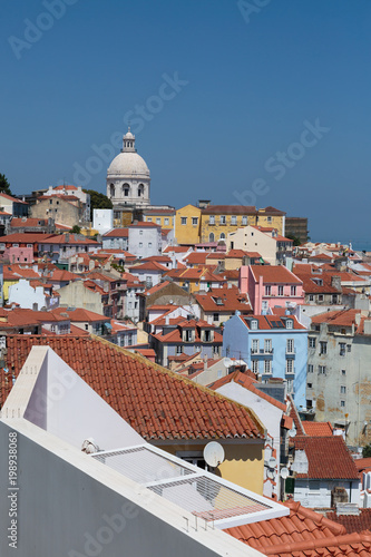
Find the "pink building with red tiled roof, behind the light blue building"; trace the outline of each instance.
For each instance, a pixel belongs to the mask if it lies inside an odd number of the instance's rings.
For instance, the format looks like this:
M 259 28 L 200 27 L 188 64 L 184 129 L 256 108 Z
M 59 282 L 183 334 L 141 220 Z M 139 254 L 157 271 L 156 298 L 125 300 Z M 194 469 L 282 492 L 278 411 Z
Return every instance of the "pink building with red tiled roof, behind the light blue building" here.
M 303 283 L 283 265 L 248 265 L 240 268 L 240 291 L 248 294 L 253 312 L 304 303 Z

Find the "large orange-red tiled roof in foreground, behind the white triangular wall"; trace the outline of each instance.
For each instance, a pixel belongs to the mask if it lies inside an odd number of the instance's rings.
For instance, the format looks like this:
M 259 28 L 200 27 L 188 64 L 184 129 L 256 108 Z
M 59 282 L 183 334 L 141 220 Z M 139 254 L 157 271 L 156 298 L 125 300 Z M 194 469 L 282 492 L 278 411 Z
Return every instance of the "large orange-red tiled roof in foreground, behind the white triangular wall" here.
M 145 439 L 264 439 L 245 407 L 97 338 L 8 336 L 6 361 L 16 377 L 32 345 L 55 350 Z M 1 371 L 3 399 L 10 383 Z

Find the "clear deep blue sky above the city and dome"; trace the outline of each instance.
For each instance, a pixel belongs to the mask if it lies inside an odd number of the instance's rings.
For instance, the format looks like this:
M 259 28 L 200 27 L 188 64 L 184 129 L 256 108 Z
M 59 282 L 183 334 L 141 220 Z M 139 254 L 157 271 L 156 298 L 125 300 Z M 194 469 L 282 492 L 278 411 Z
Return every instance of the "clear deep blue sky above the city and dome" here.
M 369 0 L 18 0 L 3 16 L 13 193 L 106 193 L 130 118 L 153 203 L 273 205 L 313 240 L 370 240 Z

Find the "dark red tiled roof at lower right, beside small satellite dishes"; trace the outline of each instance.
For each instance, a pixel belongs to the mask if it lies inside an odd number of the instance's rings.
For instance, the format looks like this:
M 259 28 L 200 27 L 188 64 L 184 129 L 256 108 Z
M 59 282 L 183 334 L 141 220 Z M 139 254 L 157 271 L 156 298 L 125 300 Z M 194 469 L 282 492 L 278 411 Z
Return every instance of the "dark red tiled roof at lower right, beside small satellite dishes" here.
M 341 436 L 296 436 L 293 441 L 296 450 L 305 450 L 309 462 L 307 473 L 297 473 L 297 478 L 359 479 L 354 460 Z

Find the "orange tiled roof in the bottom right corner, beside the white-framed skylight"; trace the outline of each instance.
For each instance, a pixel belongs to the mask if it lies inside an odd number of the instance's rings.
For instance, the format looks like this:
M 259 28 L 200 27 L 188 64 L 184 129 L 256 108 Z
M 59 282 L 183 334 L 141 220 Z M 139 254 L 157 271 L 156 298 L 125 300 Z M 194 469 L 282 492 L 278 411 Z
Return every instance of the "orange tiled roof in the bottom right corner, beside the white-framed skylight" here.
M 300 502 L 286 501 L 290 515 L 224 531 L 271 557 L 370 557 L 371 532 L 345 528 Z

